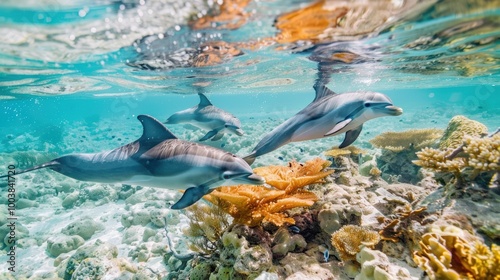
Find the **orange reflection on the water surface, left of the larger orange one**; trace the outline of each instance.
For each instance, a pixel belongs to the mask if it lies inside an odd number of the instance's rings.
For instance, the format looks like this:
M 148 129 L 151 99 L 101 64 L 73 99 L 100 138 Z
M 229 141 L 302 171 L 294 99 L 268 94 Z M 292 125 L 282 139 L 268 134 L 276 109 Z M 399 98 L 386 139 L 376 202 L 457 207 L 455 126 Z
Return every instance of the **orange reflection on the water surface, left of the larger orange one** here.
M 224 0 L 222 4 L 215 6 L 214 11 L 189 22 L 189 26 L 194 30 L 214 27 L 217 29 L 237 29 L 248 19 L 248 14 L 244 9 L 250 1 Z

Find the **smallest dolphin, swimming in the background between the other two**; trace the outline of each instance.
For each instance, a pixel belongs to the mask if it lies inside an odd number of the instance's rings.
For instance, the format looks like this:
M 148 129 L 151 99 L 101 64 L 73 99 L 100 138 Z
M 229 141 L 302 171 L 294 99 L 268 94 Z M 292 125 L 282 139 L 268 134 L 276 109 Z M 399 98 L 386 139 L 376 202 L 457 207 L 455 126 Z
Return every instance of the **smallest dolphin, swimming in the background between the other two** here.
M 209 130 L 199 141 L 205 141 L 210 138 L 212 138 L 212 141 L 217 141 L 224 136 L 225 132 L 234 133 L 238 136 L 244 134 L 238 118 L 212 105 L 203 93 L 198 93 L 198 95 L 200 96 L 200 103 L 198 105 L 173 114 L 164 123 L 190 123 L 199 128 Z

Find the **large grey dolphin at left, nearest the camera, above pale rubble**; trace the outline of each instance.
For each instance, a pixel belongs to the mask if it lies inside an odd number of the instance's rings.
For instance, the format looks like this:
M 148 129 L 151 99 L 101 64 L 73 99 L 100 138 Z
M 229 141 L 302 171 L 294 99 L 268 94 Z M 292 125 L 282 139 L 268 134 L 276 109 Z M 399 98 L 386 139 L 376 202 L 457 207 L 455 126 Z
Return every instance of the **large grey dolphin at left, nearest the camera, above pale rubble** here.
M 185 190 L 172 209 L 188 207 L 221 185 L 265 183 L 240 157 L 179 140 L 151 116 L 137 118 L 143 134 L 132 143 L 100 153 L 65 155 L 16 175 L 50 168 L 82 181 Z

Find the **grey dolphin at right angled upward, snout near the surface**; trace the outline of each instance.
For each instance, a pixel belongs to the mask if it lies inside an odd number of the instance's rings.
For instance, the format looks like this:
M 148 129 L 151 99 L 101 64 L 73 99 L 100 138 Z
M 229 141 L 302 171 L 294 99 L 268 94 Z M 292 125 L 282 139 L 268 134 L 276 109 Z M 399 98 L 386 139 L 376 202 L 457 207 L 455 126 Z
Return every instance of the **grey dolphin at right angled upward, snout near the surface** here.
M 295 116 L 289 118 L 255 146 L 243 159 L 252 164 L 255 158 L 290 142 L 319 139 L 345 133 L 339 148 L 351 145 L 361 133 L 363 123 L 383 116 L 398 116 L 403 110 L 378 92 L 337 94 L 324 85 L 316 85 L 316 97 Z

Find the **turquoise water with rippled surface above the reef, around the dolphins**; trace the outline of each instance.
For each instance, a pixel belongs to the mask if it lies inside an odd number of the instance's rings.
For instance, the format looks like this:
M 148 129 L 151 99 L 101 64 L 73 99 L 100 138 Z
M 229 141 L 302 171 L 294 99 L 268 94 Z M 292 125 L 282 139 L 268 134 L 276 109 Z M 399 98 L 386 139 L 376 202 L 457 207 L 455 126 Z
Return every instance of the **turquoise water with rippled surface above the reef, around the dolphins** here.
M 187 18 L 206 13 L 207 1 L 69 2 L 0 3 L 4 159 L 20 151 L 63 155 L 116 148 L 141 136 L 138 115 L 165 121 L 195 106 L 198 92 L 238 117 L 246 132 L 204 144 L 245 156 L 265 133 L 313 100 L 320 65 L 333 91 L 382 92 L 403 108 L 401 116 L 368 121 L 356 146 L 373 149 L 368 141 L 386 131 L 445 129 L 456 115 L 489 131 L 500 126 L 500 5 L 494 1 L 458 1 L 455 10 L 446 8 L 453 1 L 429 1 L 436 4 L 364 36 L 308 47 L 300 42 L 241 47 L 244 54 L 214 66 L 149 70 L 134 65 L 207 41 L 273 37 L 279 32 L 276 17 L 310 1 L 253 1 L 245 8 L 251 16 L 239 29 L 202 31 L 190 30 Z M 356 59 L 335 59 L 339 53 Z M 206 133 L 188 125 L 168 128 L 188 141 Z M 257 164 L 322 156 L 342 140 L 290 144 Z M 3 174 L 11 163 L 0 164 Z

